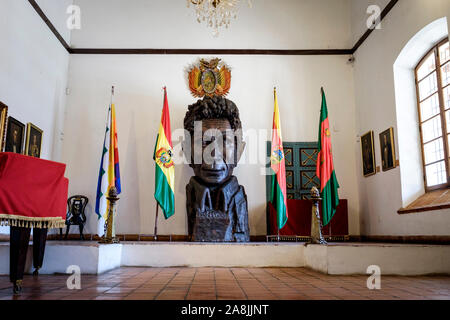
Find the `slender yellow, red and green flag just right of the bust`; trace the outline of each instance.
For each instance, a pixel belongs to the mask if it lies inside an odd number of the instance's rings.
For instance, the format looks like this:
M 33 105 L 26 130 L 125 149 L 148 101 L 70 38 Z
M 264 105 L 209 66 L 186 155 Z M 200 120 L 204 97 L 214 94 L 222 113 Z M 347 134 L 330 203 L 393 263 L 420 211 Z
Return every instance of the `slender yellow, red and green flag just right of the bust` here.
M 280 112 L 278 109 L 276 89 L 274 90 L 274 97 L 275 108 L 273 112 L 272 150 L 270 153 L 270 164 L 274 174 L 272 175 L 270 202 L 277 212 L 278 230 L 281 230 L 288 220 L 286 167 L 284 163 L 283 139 L 281 137 Z

